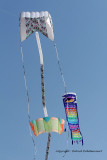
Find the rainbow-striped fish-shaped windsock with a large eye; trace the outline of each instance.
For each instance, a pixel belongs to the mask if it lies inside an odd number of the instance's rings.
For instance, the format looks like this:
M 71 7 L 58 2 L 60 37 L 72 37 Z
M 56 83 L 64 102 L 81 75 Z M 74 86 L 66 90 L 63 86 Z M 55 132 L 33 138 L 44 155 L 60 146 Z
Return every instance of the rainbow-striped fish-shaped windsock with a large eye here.
M 83 137 L 79 127 L 76 93 L 67 93 L 63 95 L 63 103 L 66 113 L 66 119 L 71 131 L 72 144 L 75 142 L 82 142 L 83 145 Z

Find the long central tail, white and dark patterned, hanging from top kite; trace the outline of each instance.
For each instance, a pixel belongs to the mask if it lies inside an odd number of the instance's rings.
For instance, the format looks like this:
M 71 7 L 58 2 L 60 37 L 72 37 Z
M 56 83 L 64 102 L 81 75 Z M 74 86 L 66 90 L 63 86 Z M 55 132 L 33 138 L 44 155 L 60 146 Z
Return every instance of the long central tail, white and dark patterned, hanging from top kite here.
M 41 47 L 41 43 L 40 43 L 39 33 L 38 33 L 38 32 L 35 32 L 35 36 L 36 36 L 36 41 L 37 41 L 37 45 L 38 45 L 39 56 L 40 56 L 40 64 L 41 64 L 41 86 L 42 86 L 42 104 L 43 104 L 43 111 L 44 111 L 44 116 L 45 116 L 45 117 L 48 117 L 47 108 L 46 108 L 46 104 L 45 104 L 43 53 L 42 53 L 42 47 Z M 46 149 L 45 160 L 48 160 L 50 140 L 51 140 L 51 133 L 48 133 L 48 142 L 47 142 L 47 149 Z

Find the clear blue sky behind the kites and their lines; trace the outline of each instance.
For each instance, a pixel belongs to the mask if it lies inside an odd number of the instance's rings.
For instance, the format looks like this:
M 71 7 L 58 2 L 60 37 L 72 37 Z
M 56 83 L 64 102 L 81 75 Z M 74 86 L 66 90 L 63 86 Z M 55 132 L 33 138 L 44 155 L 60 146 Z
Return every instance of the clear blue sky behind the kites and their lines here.
M 55 42 L 68 92 L 77 93 L 80 129 L 84 146 L 71 144 L 67 134 L 52 133 L 49 159 L 100 160 L 107 157 L 107 1 L 32 0 L 2 1 L 0 4 L 0 159 L 33 159 L 29 133 L 27 97 L 20 51 L 19 16 L 22 11 L 49 11 Z M 53 43 L 40 34 L 44 54 L 45 95 L 49 116 L 62 117 L 64 87 Z M 31 119 L 43 117 L 40 61 L 34 34 L 23 42 L 23 53 L 30 94 Z M 47 134 L 35 138 L 36 159 L 45 159 Z M 102 150 L 100 153 L 72 150 Z

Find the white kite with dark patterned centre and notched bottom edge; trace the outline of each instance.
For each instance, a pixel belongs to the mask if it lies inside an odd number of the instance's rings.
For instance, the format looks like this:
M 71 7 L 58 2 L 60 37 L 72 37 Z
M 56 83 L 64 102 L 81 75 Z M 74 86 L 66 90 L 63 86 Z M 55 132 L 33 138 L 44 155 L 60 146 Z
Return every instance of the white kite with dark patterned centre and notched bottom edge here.
M 33 32 L 38 31 L 54 41 L 52 18 L 49 12 L 22 12 L 20 15 L 21 42 L 27 39 Z

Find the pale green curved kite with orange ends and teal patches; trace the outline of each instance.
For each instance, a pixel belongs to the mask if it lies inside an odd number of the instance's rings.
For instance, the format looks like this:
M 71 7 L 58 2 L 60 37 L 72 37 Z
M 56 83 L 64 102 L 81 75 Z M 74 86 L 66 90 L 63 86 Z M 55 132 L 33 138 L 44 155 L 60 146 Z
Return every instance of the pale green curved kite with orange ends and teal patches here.
M 30 126 L 35 136 L 45 132 L 57 132 L 62 134 L 64 128 L 64 119 L 55 117 L 44 117 L 32 120 Z

